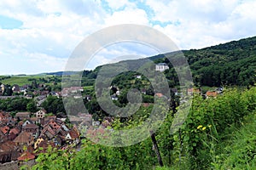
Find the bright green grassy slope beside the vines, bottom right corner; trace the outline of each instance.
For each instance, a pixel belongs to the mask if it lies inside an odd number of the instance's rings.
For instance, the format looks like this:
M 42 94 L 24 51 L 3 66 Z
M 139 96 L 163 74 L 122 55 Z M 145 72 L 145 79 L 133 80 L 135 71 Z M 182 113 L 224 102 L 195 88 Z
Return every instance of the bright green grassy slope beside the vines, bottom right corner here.
M 216 158 L 215 169 L 256 169 L 256 112 L 247 116 Z

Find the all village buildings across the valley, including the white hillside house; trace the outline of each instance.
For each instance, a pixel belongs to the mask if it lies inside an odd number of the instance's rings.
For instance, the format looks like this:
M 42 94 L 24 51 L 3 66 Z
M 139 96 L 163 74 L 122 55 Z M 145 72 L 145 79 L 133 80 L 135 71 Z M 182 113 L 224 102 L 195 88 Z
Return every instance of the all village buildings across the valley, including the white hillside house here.
M 156 71 L 166 71 L 169 69 L 165 63 L 156 65 Z M 137 75 L 136 79 L 141 79 L 142 76 Z M 118 100 L 120 89 L 118 87 L 110 87 L 113 90 L 111 95 L 112 100 Z M 6 95 L 11 91 L 12 95 Z M 34 99 L 37 107 L 40 109 L 36 112 L 17 112 L 15 116 L 8 111 L 0 111 L 0 163 L 11 161 L 29 161 L 34 160 L 40 153 L 46 152 L 51 146 L 59 150 L 66 150 L 68 147 L 75 147 L 80 143 L 81 134 L 79 125 L 90 132 L 92 127 L 106 128 L 111 126 L 113 119 L 105 117 L 102 122 L 95 121 L 92 114 L 79 113 L 77 116 L 68 116 L 66 114 L 52 115 L 41 107 L 42 103 L 48 96 L 56 98 L 66 98 L 72 96 L 74 99 L 82 98 L 79 93 L 84 92 L 82 87 L 63 88 L 61 91 L 50 91 L 44 84 L 38 84 L 37 88 L 31 91 L 29 85 L 20 87 L 15 84 L 13 86 L 0 86 L 0 99 L 26 98 Z M 171 88 L 171 92 L 175 96 L 182 96 L 177 88 Z M 205 98 L 216 97 L 222 94 L 223 88 L 216 88 L 214 91 L 207 91 L 202 94 L 201 88 L 188 88 L 188 95 L 199 94 Z M 146 88 L 141 89 L 143 95 L 148 95 Z M 4 95 L 3 95 L 4 94 Z M 19 94 L 19 95 L 17 95 Z M 165 96 L 164 94 L 154 94 L 158 97 Z M 84 94 L 83 99 L 90 101 L 91 95 Z M 183 102 L 183 101 L 181 101 Z M 143 106 L 150 103 L 143 102 Z M 68 122 L 67 122 L 68 118 Z M 94 132 L 90 132 L 93 134 Z

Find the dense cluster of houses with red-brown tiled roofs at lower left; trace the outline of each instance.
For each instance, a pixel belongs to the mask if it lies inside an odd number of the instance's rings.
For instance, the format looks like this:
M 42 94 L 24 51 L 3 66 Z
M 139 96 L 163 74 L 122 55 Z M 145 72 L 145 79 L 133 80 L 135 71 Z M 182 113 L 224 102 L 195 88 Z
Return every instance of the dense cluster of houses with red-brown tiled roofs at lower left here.
M 46 111 L 0 112 L 0 163 L 35 159 L 50 146 L 65 149 L 79 144 L 79 130 L 63 119 L 46 116 Z M 39 149 L 40 148 L 40 149 Z

